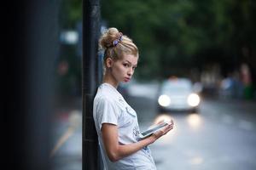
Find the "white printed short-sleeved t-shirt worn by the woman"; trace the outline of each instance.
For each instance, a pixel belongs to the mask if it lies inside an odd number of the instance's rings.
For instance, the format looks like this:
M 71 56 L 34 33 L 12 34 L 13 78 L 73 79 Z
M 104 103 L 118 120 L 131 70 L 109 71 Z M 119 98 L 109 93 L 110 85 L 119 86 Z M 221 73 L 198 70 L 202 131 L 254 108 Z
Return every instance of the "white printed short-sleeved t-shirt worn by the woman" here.
M 137 113 L 116 88 L 102 83 L 93 103 L 93 117 L 106 170 L 155 170 L 154 159 L 148 146 L 119 161 L 110 161 L 102 142 L 102 123 L 111 123 L 118 127 L 119 144 L 132 144 L 138 141 L 140 133 Z

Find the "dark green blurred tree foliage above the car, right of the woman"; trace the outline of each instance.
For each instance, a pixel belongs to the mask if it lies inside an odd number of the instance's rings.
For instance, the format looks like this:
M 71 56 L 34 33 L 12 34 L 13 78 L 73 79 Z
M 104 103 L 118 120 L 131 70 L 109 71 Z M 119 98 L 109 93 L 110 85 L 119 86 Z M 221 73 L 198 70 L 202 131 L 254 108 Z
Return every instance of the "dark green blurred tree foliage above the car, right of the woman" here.
M 238 55 L 241 42 L 255 42 L 255 11 L 252 0 L 102 0 L 102 20 L 133 38 L 146 78 L 200 67 L 212 49 L 218 59 Z

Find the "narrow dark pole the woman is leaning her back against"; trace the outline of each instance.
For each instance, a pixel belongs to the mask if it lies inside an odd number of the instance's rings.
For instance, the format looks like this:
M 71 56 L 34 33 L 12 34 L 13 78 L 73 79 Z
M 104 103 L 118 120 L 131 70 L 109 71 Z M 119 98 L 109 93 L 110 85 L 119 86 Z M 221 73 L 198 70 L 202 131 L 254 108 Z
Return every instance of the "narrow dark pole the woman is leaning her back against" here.
M 83 170 L 99 169 L 98 140 L 93 121 L 92 106 L 96 87 L 97 73 L 97 42 L 100 19 L 99 0 L 84 0 L 83 2 Z

